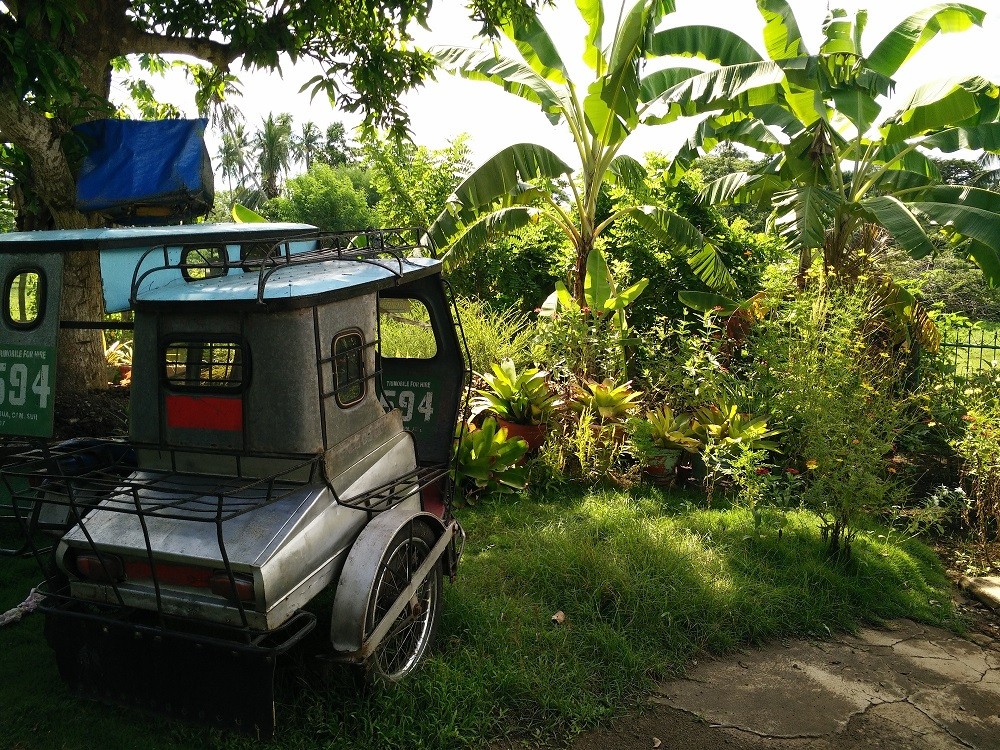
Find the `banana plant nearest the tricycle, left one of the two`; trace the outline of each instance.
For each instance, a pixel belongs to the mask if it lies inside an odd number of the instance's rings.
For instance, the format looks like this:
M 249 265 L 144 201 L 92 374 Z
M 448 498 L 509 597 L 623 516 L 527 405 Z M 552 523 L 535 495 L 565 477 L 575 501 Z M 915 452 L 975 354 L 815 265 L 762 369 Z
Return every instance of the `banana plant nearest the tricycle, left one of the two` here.
M 595 240 L 615 221 L 631 216 L 651 234 L 686 255 L 698 276 L 723 292 L 733 279 L 716 249 L 684 217 L 659 206 L 635 206 L 599 219 L 598 196 L 605 184 L 635 187 L 645 175 L 635 159 L 619 153 L 642 124 L 667 115 L 697 114 L 738 101 L 754 100 L 758 89 L 777 85 L 781 70 L 771 62 L 753 62 L 739 71 L 704 73 L 695 68 L 644 75 L 642 62 L 660 21 L 674 11 L 673 0 L 634 0 L 622 6 L 610 43 L 602 34 L 601 0 L 576 4 L 587 25 L 583 59 L 593 77 L 577 83 L 537 15 L 526 10 L 502 27 L 516 53 L 497 46 L 432 47 L 430 53 L 446 71 L 487 81 L 532 102 L 553 124 L 566 127 L 576 146 L 571 166 L 537 144 L 519 143 L 488 159 L 455 190 L 445 210 L 427 232 L 427 243 L 445 252 L 448 263 L 460 263 L 498 233 L 540 220 L 552 221 L 575 251 L 573 296 L 585 304 L 587 259 Z M 724 93 L 723 93 L 724 92 Z M 568 184 L 569 201 L 560 198 Z

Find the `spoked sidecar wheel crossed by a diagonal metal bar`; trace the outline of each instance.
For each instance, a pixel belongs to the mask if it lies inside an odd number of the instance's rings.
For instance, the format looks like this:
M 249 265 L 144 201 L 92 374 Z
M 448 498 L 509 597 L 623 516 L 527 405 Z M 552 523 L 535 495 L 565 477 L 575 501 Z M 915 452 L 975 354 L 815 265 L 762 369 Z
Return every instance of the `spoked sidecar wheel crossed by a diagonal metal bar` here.
M 365 637 L 409 585 L 410 578 L 430 554 L 434 534 L 422 523 L 400 531 L 389 545 L 375 576 L 365 616 Z M 365 664 L 369 681 L 398 682 L 420 663 L 437 629 L 441 604 L 441 565 L 434 566 L 416 593 L 396 617 L 389 632 Z

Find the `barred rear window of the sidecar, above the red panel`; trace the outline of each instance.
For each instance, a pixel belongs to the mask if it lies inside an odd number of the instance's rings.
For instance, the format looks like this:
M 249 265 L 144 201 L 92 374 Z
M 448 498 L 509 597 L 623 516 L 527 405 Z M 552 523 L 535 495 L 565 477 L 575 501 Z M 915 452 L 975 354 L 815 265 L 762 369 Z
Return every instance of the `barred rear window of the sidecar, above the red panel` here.
M 171 339 L 163 345 L 162 361 L 172 391 L 233 392 L 249 382 L 246 347 L 238 339 Z

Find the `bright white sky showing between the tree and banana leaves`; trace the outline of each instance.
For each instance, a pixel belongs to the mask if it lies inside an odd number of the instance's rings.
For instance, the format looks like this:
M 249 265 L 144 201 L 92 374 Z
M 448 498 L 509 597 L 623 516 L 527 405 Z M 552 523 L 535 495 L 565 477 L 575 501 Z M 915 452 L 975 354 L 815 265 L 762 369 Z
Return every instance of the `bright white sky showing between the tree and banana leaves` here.
M 630 0 L 629 0 L 630 1 Z M 911 13 L 932 5 L 933 0 L 833 0 L 832 7 L 841 7 L 851 16 L 859 8 L 867 8 L 868 25 L 862 39 L 867 50 Z M 1000 0 L 971 0 L 987 12 L 982 28 L 972 28 L 960 34 L 939 35 L 910 60 L 896 76 L 894 100 L 905 101 L 914 88 L 931 80 L 952 76 L 980 75 L 1000 82 Z M 826 15 L 827 0 L 790 0 L 811 51 L 818 48 L 821 27 Z M 613 22 L 615 0 L 605 0 L 606 15 Z M 556 0 L 556 7 L 541 14 L 542 23 L 553 36 L 557 48 L 571 75 L 577 82 L 589 81 L 589 69 L 582 61 L 585 26 L 573 0 Z M 665 26 L 711 24 L 736 31 L 749 42 L 763 48 L 763 21 L 753 0 L 677 0 L 677 12 L 668 16 Z M 478 45 L 477 25 L 465 15 L 457 0 L 438 0 L 431 12 L 430 31 L 418 29 L 418 46 Z M 613 28 L 608 29 L 609 38 Z M 325 130 L 331 122 L 344 122 L 349 128 L 358 118 L 337 112 L 325 97 L 310 101 L 309 93 L 299 93 L 302 84 L 317 73 L 310 65 L 286 65 L 283 74 L 240 73 L 243 96 L 235 101 L 243 112 L 248 129 L 255 130 L 268 113 L 289 112 L 296 129 L 312 121 Z M 188 116 L 195 116 L 193 89 L 182 81 L 154 83 L 158 94 L 181 107 Z M 121 98 L 124 98 L 123 96 Z M 461 133 L 471 136 L 474 163 L 479 163 L 497 151 L 518 142 L 533 142 L 547 146 L 574 163 L 575 150 L 565 126 L 552 126 L 533 104 L 504 93 L 498 86 L 478 81 L 466 81 L 439 73 L 436 81 L 404 96 L 416 143 L 440 148 Z M 886 113 L 888 114 L 888 113 Z M 657 127 L 640 127 L 624 148 L 637 158 L 649 151 L 672 153 L 684 140 L 692 124 L 680 123 Z M 218 135 L 209 134 L 209 150 L 215 156 Z

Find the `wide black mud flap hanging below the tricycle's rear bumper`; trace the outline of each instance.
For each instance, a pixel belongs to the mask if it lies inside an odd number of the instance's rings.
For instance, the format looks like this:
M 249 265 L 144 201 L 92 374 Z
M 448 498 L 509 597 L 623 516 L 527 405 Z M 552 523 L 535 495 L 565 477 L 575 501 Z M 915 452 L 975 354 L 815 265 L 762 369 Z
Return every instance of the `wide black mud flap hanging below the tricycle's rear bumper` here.
M 274 734 L 279 649 L 195 639 L 51 607 L 45 612 L 45 638 L 60 676 L 78 696 L 259 739 Z

